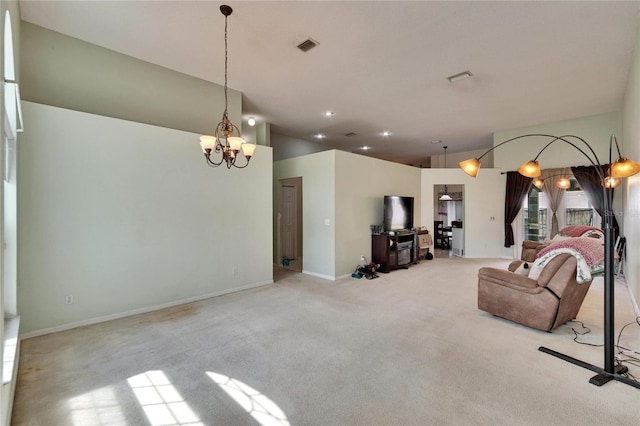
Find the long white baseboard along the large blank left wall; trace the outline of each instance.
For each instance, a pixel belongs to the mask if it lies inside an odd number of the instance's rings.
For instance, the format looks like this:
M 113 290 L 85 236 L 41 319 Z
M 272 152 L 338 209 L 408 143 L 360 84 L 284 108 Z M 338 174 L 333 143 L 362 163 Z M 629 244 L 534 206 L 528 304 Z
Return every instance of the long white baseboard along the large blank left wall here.
M 98 323 L 106 322 L 106 321 L 112 321 L 112 320 L 115 320 L 115 319 L 130 317 L 130 316 L 133 316 L 133 315 L 146 314 L 147 312 L 153 312 L 153 311 L 158 311 L 160 309 L 172 308 L 172 307 L 178 306 L 178 305 L 184 305 L 184 304 L 187 304 L 187 303 L 198 302 L 200 300 L 211 299 L 212 297 L 224 296 L 225 294 L 237 293 L 239 291 L 244 291 L 244 290 L 250 290 L 252 288 L 262 287 L 262 286 L 269 285 L 269 284 L 273 284 L 273 280 L 262 281 L 262 282 L 258 282 L 258 283 L 252 283 L 252 284 L 248 284 L 248 285 L 245 285 L 245 286 L 242 286 L 242 287 L 234 287 L 234 288 L 231 288 L 231 289 L 222 290 L 222 291 L 218 291 L 218 292 L 214 292 L 214 293 L 208 293 L 208 294 L 202 294 L 202 295 L 199 295 L 199 296 L 189 297 L 189 298 L 186 298 L 186 299 L 174 300 L 172 302 L 167 302 L 167 303 L 163 303 L 163 304 L 160 304 L 160 305 L 146 306 L 144 308 L 138 308 L 138 309 L 134 309 L 134 310 L 131 310 L 131 311 L 120 312 L 120 313 L 117 313 L 117 314 L 105 315 L 105 316 L 96 317 L 96 318 L 90 318 L 90 319 L 87 319 L 87 320 L 72 322 L 72 323 L 69 323 L 69 324 L 63 324 L 63 325 L 59 325 L 59 326 L 56 326 L 56 327 L 45 328 L 45 329 L 42 329 L 42 330 L 30 331 L 28 333 L 21 334 L 20 335 L 20 340 L 30 339 L 32 337 L 44 336 L 45 334 L 58 333 L 60 331 L 71 330 L 73 328 L 84 327 L 86 325 L 93 325 L 93 324 L 98 324 Z

